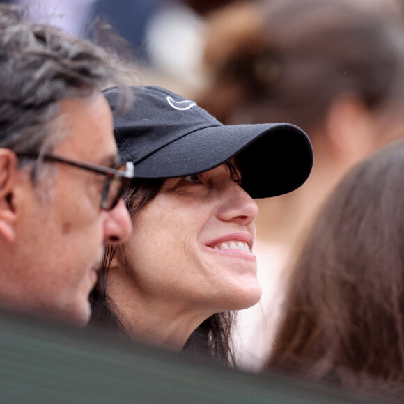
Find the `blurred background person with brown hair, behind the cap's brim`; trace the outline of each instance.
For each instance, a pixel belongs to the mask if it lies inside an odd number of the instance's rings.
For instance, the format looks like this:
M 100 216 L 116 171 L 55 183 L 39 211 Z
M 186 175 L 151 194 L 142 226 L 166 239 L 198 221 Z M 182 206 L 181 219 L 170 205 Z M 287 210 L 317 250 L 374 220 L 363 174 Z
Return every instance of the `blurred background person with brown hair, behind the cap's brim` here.
M 400 4 L 235 3 L 205 20 L 204 58 L 210 85 L 195 96 L 201 107 L 226 124 L 291 122 L 313 143 L 304 186 L 257 201 L 263 297 L 241 312 L 238 344 L 242 364 L 259 368 L 272 345 L 283 273 L 319 205 L 352 165 L 404 134 Z

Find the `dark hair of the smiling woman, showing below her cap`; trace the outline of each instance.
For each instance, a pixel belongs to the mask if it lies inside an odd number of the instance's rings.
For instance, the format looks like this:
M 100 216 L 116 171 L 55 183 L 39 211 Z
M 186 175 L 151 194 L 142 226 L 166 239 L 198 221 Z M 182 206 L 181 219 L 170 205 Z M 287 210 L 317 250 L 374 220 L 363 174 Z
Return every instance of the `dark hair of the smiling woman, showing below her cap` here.
M 233 163 L 227 162 L 226 164 L 231 171 L 231 176 L 239 178 Z M 131 217 L 137 215 L 155 198 L 165 180 L 165 178 L 135 178 L 132 181 L 132 187 L 124 197 Z M 121 334 L 128 335 L 126 325 L 120 319 L 118 307 L 107 294 L 109 266 L 118 249 L 120 249 L 119 254 L 125 254 L 122 247 L 109 246 L 105 250 L 98 283 L 90 295 L 92 308 L 90 323 L 91 325 L 115 329 Z M 125 258 L 123 260 L 125 261 Z M 212 357 L 224 365 L 235 365 L 235 355 L 231 344 L 234 320 L 235 314 L 231 311 L 213 314 L 192 332 L 182 351 L 192 355 Z

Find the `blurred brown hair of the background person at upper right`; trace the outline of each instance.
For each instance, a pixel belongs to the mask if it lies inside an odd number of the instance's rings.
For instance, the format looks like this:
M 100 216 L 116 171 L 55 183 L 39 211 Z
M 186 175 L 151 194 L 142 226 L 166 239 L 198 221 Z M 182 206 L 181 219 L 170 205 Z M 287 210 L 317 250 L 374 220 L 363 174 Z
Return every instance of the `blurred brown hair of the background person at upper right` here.
M 343 95 L 372 110 L 403 102 L 398 14 L 341 0 L 257 1 L 219 10 L 207 20 L 205 63 L 213 80 L 199 104 L 226 123 L 269 119 L 310 131 Z

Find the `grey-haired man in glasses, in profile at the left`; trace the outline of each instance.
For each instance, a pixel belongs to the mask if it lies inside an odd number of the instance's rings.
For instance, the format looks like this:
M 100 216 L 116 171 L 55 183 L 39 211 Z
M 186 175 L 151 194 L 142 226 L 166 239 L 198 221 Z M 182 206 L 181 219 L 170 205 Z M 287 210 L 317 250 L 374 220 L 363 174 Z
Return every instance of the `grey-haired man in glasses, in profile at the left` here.
M 0 7 L 0 306 L 85 325 L 104 245 L 132 230 L 120 199 L 114 59 Z

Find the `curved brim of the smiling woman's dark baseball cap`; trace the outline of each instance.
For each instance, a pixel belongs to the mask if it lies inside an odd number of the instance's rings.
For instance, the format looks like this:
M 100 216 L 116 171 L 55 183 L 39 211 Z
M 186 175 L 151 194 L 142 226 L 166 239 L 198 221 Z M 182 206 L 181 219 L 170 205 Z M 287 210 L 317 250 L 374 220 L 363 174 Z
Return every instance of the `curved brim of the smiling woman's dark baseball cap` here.
M 137 162 L 135 177 L 188 176 L 213 169 L 235 155 L 242 187 L 253 198 L 297 189 L 313 166 L 309 138 L 295 125 L 225 125 L 205 127 L 160 148 Z

